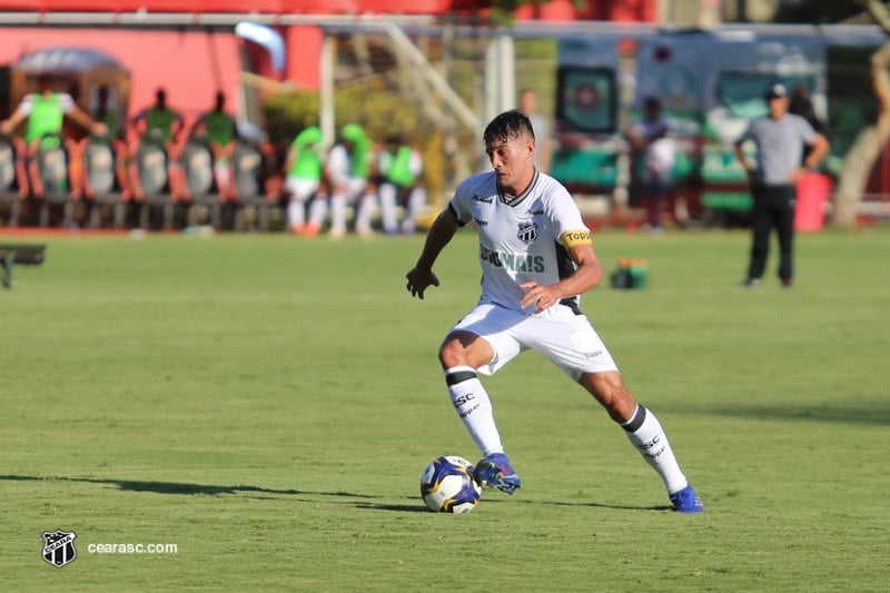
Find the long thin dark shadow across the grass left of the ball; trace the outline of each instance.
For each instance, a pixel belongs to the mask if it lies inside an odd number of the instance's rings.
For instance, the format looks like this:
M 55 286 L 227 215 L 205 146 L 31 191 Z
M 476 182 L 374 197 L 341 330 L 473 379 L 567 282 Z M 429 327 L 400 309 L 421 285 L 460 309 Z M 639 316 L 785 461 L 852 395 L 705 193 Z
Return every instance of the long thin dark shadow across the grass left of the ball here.
M 105 484 L 117 486 L 118 490 L 129 492 L 154 492 L 156 494 L 182 494 L 196 495 L 204 494 L 206 496 L 218 496 L 220 494 L 280 494 L 288 496 L 342 496 L 345 498 L 377 498 L 367 494 L 354 494 L 352 492 L 310 492 L 301 490 L 278 490 L 278 488 L 264 488 L 260 486 L 218 486 L 212 484 L 191 484 L 188 482 L 154 482 L 154 481 L 135 481 L 135 480 L 100 480 L 92 477 L 37 477 L 37 476 L 17 476 L 17 475 L 0 475 L 0 482 L 3 481 L 43 481 L 43 480 L 58 480 L 61 482 L 86 482 L 88 484 Z

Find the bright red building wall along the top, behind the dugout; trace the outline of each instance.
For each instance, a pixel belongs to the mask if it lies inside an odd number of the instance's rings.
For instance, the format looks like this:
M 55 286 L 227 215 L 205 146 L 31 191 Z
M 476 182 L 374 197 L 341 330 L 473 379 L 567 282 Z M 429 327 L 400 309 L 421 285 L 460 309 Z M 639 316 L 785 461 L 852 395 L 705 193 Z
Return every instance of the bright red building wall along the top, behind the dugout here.
M 552 0 L 543 6 L 525 6 L 516 11 L 520 20 L 614 20 L 654 21 L 656 0 L 587 0 L 586 8 L 575 9 L 572 0 Z M 134 12 L 148 7 L 152 12 L 246 12 L 270 13 L 400 13 L 441 14 L 478 12 L 487 1 L 478 0 L 0 0 L 0 11 L 98 11 Z M 322 32 L 314 27 L 281 28 L 287 45 L 284 79 L 297 88 L 317 89 Z M 132 73 L 135 108 L 148 105 L 155 89 L 168 90 L 170 105 L 191 116 L 209 105 L 217 88 L 235 103 L 238 88 L 239 41 L 217 33 L 142 32 L 115 29 L 4 29 L 0 43 L 0 63 L 14 62 L 20 56 L 50 46 L 95 47 L 116 57 Z M 248 58 L 257 71 L 276 78 L 265 50 L 245 42 Z

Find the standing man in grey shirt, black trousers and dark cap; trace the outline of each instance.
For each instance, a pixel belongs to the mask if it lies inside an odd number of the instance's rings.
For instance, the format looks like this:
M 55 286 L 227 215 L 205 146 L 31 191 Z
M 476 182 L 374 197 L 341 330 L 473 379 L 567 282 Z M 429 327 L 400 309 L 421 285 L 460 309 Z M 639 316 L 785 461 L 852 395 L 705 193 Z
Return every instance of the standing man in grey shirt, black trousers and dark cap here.
M 815 168 L 828 154 L 828 139 L 817 132 L 802 117 L 788 112 L 788 91 L 782 85 L 767 89 L 769 117 L 752 121 L 735 142 L 735 156 L 748 171 L 754 200 L 751 220 L 751 261 L 746 286 L 759 286 L 770 253 L 770 231 L 779 235 L 779 278 L 790 287 L 793 278 L 792 249 L 794 239 L 794 207 L 797 182 L 809 169 Z M 745 158 L 743 145 L 756 146 L 756 166 Z M 803 159 L 804 146 L 811 150 Z

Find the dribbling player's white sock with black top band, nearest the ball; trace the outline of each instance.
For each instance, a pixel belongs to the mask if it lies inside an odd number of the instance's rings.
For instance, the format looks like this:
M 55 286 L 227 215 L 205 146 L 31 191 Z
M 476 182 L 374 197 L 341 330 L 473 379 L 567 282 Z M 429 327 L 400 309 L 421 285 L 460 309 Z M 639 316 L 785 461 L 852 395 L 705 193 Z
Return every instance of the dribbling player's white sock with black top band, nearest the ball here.
M 445 370 L 448 395 L 452 396 L 454 409 L 464 421 L 469 436 L 476 442 L 483 456 L 492 453 L 504 453 L 501 435 L 494 424 L 492 401 L 476 377 L 476 372 L 468 366 L 455 366 Z

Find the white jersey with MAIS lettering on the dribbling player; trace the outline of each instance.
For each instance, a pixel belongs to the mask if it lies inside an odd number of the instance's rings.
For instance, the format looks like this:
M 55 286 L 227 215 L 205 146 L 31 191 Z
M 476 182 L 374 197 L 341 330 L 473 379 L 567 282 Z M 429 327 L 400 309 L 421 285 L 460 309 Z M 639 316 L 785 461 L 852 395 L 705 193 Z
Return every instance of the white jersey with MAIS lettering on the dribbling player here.
M 457 187 L 448 207 L 461 226 L 475 221 L 478 229 L 479 303 L 513 310 L 523 310 L 521 284 L 551 285 L 575 271 L 564 240 L 590 237 L 568 190 L 538 171 L 528 189 L 511 201 L 498 190 L 494 171 L 475 175 Z M 567 300 L 563 304 L 577 306 L 577 296 Z

